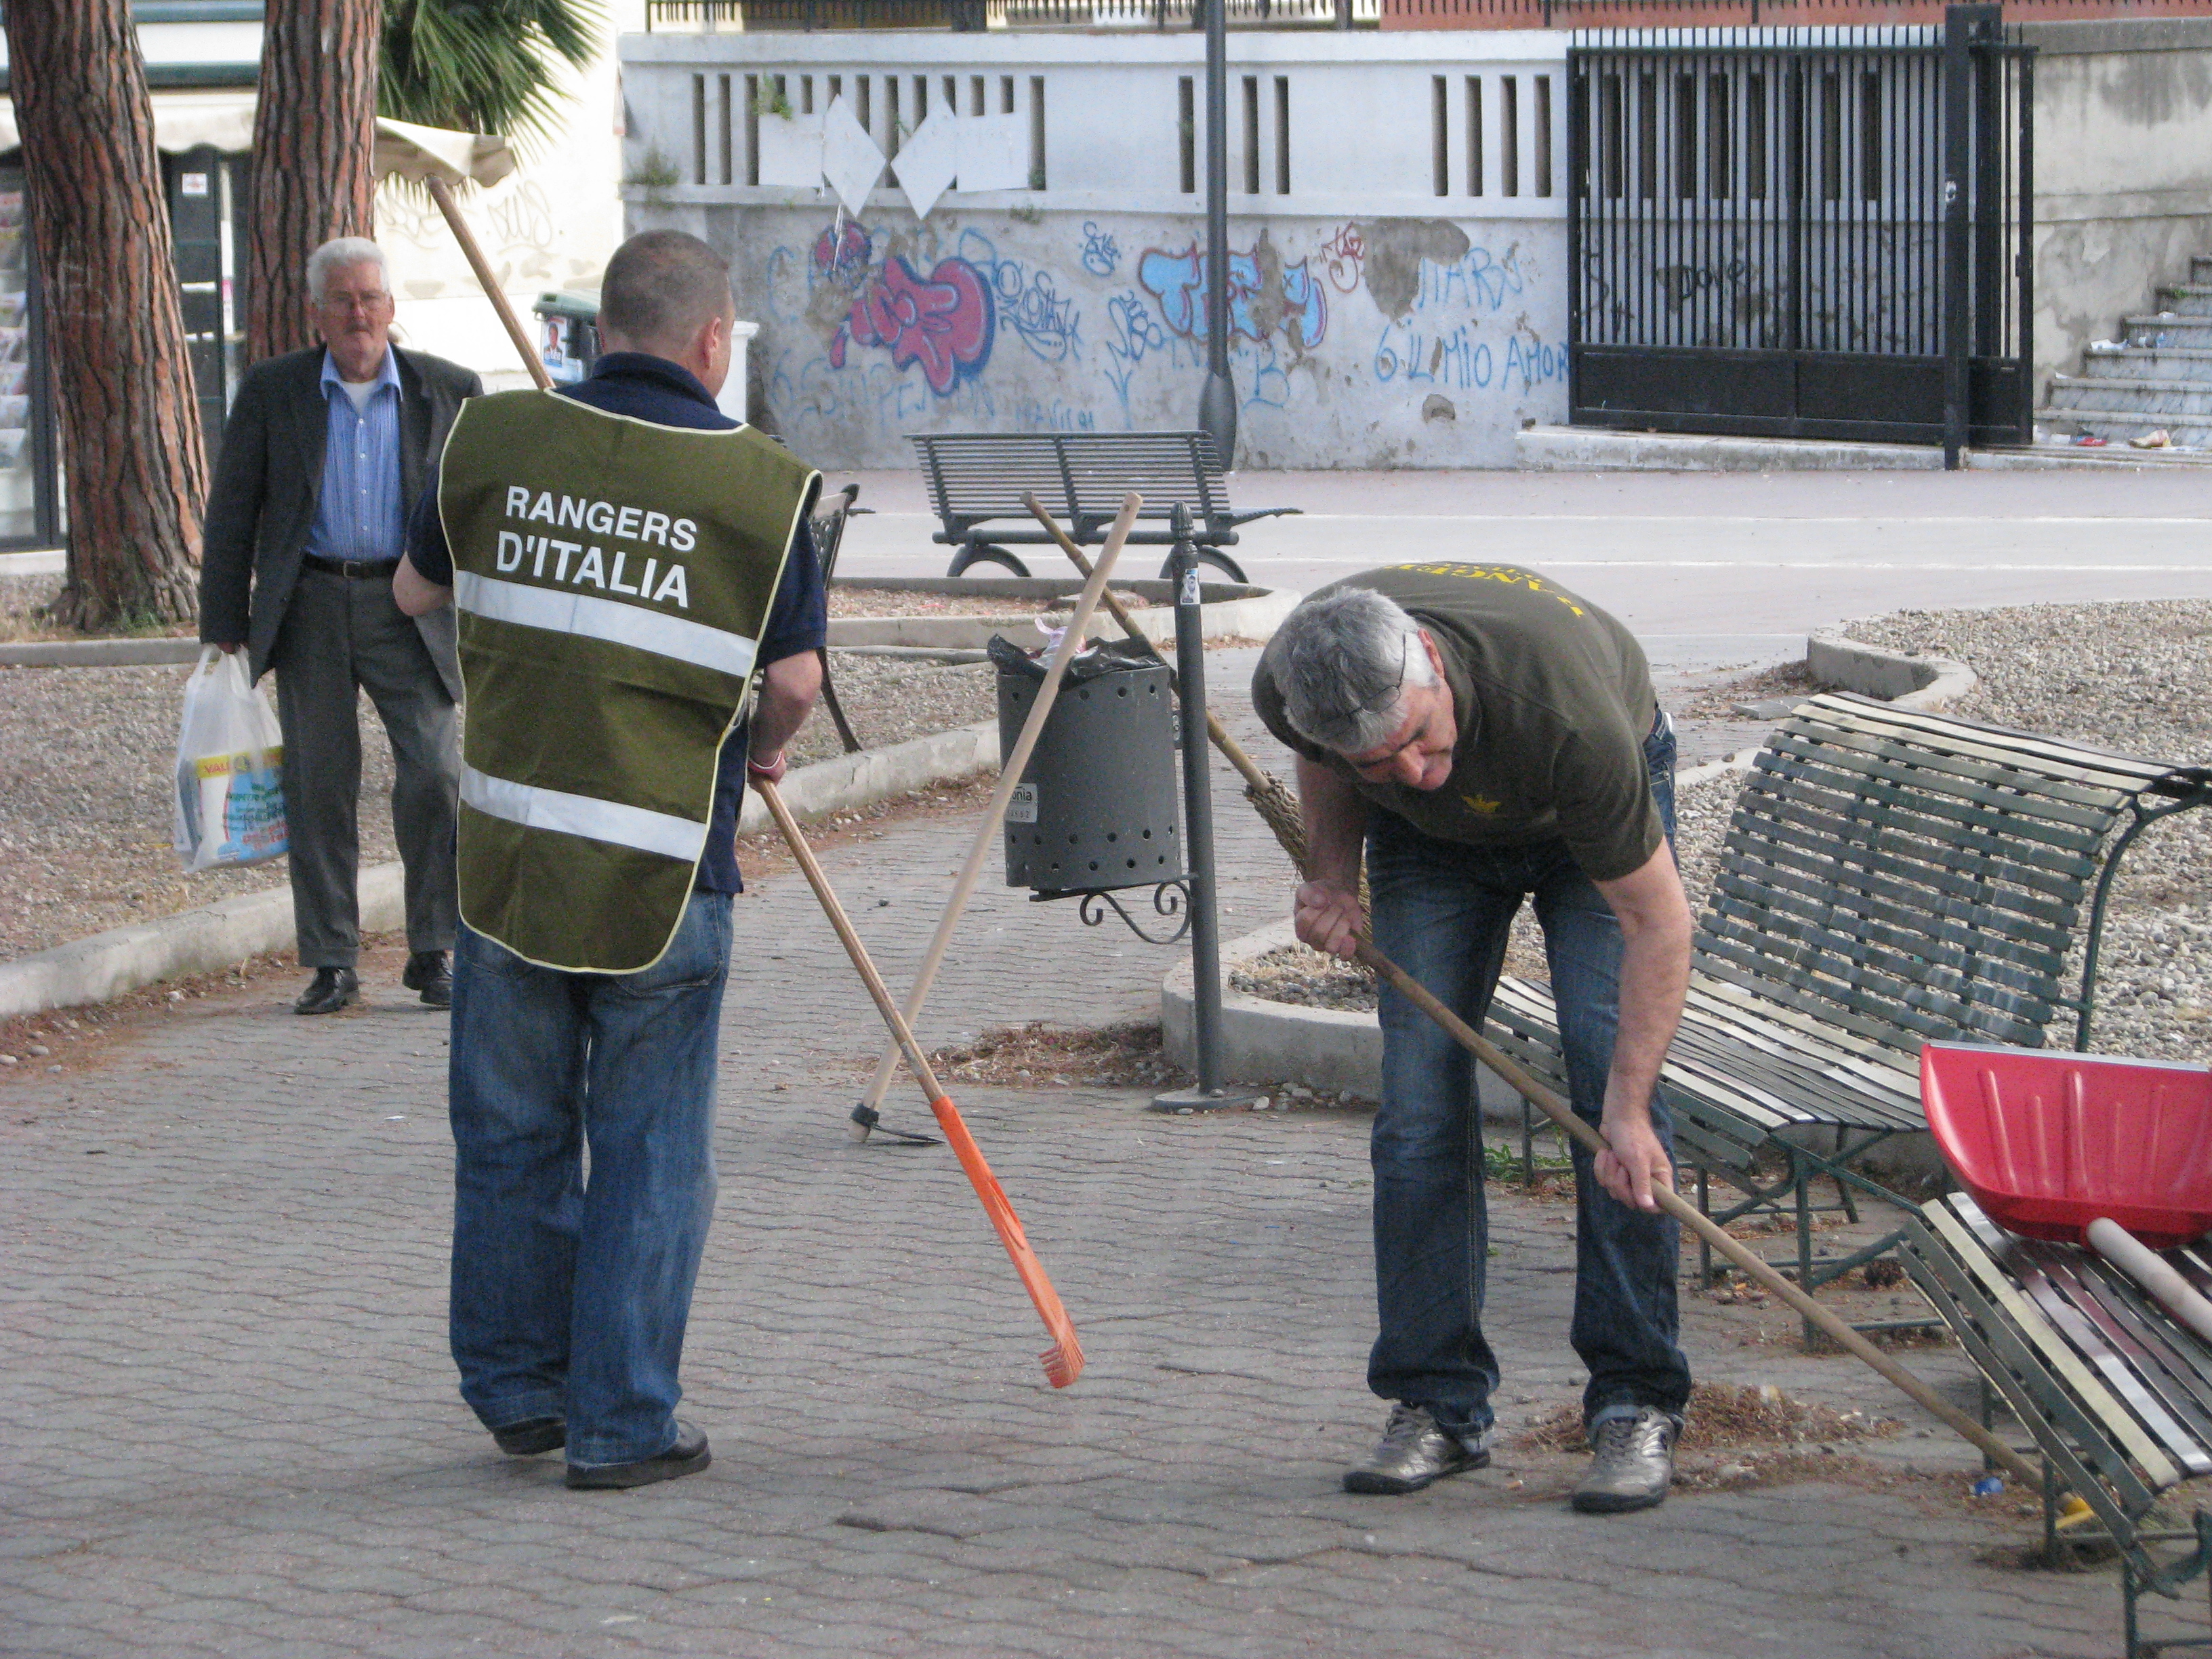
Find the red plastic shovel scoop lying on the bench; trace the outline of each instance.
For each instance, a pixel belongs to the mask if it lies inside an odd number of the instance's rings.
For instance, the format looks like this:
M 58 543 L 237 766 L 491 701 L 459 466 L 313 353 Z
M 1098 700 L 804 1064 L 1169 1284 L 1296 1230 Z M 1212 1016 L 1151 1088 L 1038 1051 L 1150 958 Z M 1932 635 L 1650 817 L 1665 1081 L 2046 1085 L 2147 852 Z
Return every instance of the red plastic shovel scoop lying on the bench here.
M 2046 1048 L 1931 1042 L 1920 1102 L 1982 1212 L 2084 1243 L 2117 1221 L 2152 1250 L 2212 1230 L 2212 1071 Z

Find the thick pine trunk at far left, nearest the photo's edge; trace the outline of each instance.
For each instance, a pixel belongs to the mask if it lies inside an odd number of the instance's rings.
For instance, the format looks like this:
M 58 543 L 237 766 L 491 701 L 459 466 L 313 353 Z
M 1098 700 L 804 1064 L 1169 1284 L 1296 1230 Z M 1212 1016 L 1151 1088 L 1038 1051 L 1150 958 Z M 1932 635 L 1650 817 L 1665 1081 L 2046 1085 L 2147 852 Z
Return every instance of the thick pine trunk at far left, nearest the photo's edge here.
M 9 84 L 69 478 L 64 626 L 195 613 L 208 451 L 128 0 L 13 0 Z

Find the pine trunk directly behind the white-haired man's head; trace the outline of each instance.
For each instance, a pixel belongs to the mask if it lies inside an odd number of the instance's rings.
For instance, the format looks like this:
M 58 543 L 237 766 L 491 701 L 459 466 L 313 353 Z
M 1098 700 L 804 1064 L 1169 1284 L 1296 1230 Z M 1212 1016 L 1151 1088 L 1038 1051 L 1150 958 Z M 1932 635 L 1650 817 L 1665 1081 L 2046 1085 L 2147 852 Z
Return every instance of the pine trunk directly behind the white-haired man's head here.
M 254 106 L 246 352 L 314 345 L 307 254 L 374 223 L 383 0 L 268 0 Z

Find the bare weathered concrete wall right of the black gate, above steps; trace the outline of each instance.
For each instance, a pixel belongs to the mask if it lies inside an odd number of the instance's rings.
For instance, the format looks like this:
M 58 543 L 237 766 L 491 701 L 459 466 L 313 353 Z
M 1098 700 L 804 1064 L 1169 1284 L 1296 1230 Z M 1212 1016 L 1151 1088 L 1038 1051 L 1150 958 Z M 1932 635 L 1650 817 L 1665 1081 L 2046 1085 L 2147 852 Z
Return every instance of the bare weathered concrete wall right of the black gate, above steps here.
M 2079 374 L 2212 254 L 2212 20 L 2046 22 L 2035 62 L 2035 383 Z

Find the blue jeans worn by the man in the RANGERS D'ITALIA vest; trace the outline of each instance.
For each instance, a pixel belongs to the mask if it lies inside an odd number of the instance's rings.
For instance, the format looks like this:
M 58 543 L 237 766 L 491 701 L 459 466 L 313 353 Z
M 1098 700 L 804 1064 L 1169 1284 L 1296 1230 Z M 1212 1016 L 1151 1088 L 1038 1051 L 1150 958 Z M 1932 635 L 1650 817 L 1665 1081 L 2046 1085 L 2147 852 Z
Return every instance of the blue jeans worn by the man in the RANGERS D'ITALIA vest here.
M 575 1464 L 675 1444 L 728 969 L 728 894 L 692 894 L 644 973 L 531 967 L 460 929 L 451 1340 L 487 1429 L 566 1418 Z

